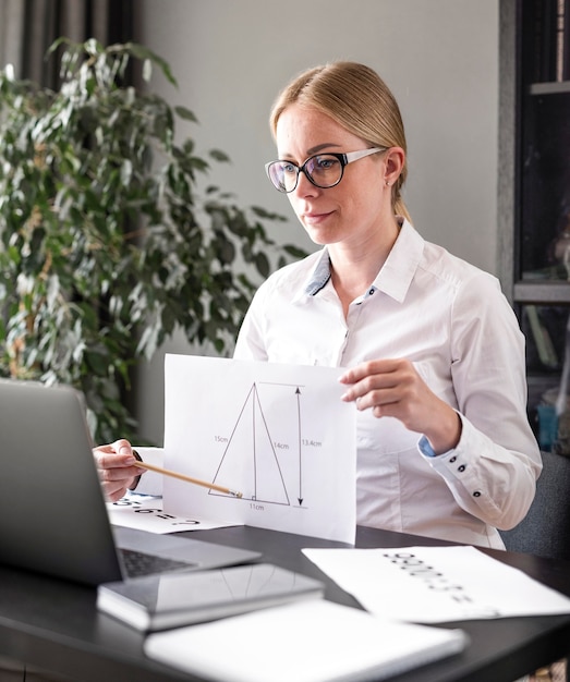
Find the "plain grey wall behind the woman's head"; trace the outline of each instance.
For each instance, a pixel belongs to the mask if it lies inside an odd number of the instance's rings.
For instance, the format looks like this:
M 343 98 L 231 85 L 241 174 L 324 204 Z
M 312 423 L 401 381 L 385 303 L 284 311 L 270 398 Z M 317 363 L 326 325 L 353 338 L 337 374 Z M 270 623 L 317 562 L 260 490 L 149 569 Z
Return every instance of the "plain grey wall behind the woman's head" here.
M 141 40 L 163 57 L 191 108 L 198 149 L 219 147 L 232 165 L 216 184 L 290 217 L 277 239 L 312 248 L 288 199 L 270 186 L 275 157 L 267 115 L 298 72 L 326 61 L 367 63 L 400 103 L 408 133 L 404 198 L 427 239 L 496 273 L 499 0 L 140 0 Z M 191 351 L 175 338 L 163 351 Z M 142 434 L 162 439 L 163 352 L 143 368 Z

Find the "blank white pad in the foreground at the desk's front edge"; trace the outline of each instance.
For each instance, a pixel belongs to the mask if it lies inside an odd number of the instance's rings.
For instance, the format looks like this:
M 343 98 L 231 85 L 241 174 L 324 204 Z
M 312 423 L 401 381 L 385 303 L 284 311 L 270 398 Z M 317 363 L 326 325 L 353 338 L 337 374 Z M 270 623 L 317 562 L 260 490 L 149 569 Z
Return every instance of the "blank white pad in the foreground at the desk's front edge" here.
M 461 630 L 388 622 L 324 599 L 150 634 L 145 654 L 208 680 L 391 680 L 461 651 Z

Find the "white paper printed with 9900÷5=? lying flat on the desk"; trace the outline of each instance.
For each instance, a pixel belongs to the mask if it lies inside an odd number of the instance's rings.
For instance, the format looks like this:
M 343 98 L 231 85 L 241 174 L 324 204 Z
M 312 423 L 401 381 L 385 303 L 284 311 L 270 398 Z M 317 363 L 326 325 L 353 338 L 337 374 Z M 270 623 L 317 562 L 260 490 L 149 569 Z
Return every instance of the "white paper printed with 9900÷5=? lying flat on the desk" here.
M 304 549 L 371 613 L 437 623 L 570 613 L 570 599 L 474 547 Z

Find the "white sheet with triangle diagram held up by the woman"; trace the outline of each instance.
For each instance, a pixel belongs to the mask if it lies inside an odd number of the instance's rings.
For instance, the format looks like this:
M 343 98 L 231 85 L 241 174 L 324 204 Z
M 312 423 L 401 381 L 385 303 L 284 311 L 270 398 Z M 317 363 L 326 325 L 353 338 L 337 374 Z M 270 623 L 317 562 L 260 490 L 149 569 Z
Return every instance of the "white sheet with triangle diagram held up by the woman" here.
M 354 543 L 355 410 L 341 368 L 167 355 L 165 509 Z

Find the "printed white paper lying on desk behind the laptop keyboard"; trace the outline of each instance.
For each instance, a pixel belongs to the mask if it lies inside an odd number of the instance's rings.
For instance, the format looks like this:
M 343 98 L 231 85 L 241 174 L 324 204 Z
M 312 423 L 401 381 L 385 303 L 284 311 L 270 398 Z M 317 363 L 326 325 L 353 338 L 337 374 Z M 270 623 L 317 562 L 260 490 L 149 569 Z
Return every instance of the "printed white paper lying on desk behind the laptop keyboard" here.
M 165 512 L 162 507 L 161 497 L 128 494 L 117 502 L 107 502 L 107 512 L 113 525 L 158 534 L 207 531 L 235 525 L 195 516 L 177 516 Z

